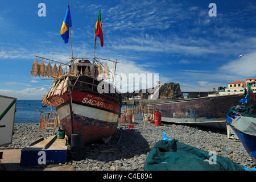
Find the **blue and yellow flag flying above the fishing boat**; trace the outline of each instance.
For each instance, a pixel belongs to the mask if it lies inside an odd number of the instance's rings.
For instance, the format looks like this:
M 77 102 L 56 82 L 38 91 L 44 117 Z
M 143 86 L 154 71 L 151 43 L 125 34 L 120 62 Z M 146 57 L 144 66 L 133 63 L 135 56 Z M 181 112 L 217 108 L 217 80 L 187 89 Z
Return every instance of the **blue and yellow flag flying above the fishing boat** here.
M 68 6 L 67 13 L 65 15 L 62 27 L 60 29 L 60 35 L 61 35 L 61 38 L 63 38 L 63 41 L 65 44 L 68 43 L 69 27 L 72 27 L 72 22 L 71 22 L 71 15 L 70 15 L 69 6 Z

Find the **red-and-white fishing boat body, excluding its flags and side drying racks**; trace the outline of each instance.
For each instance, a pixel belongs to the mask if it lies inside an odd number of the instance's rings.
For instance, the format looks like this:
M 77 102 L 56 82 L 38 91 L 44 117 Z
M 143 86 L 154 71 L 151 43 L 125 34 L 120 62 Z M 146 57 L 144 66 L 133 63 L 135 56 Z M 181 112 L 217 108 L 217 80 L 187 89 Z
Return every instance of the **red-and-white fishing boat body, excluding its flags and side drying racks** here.
M 89 60 L 78 63 L 82 72 L 88 67 L 94 70 L 94 66 Z M 68 137 L 82 133 L 86 144 L 108 138 L 115 132 L 122 96 L 112 84 L 92 75 L 65 75 L 53 82 L 43 102 L 56 108 L 59 126 Z

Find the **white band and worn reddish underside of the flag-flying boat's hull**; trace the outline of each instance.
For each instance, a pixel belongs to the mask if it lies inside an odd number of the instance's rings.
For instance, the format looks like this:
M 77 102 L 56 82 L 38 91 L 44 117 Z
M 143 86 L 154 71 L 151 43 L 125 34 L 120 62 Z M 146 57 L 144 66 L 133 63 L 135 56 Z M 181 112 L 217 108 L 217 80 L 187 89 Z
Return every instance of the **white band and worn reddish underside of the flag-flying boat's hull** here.
M 110 137 L 114 134 L 118 125 L 118 114 L 109 111 L 96 109 L 89 106 L 72 104 L 73 126 L 71 114 L 68 113 L 69 104 L 59 107 L 60 127 L 65 134 L 71 137 L 72 133 L 82 133 L 85 144 Z M 73 127 L 73 132 L 72 132 Z

